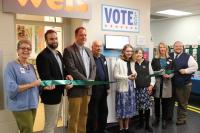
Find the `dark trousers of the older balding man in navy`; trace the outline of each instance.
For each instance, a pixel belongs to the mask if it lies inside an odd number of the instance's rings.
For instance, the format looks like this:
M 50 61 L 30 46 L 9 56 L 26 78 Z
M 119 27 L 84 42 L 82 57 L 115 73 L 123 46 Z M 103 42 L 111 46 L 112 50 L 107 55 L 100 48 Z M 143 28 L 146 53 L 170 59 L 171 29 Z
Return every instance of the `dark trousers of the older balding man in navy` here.
M 99 88 L 98 90 L 92 92 L 92 96 L 88 105 L 86 132 L 103 133 L 106 128 L 107 117 L 107 90 L 102 90 L 102 88 Z

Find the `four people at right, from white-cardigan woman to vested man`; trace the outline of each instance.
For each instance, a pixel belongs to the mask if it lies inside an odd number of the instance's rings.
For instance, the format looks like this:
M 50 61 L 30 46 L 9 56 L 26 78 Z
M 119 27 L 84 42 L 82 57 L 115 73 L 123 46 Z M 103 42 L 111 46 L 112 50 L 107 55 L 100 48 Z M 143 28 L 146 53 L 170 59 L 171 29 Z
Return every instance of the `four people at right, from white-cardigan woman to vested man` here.
M 160 123 L 161 105 L 162 129 L 167 128 L 168 121 L 173 119 L 175 100 L 178 103 L 176 125 L 186 124 L 191 77 L 198 70 L 197 62 L 184 52 L 180 41 L 174 43 L 174 52 L 170 54 L 168 46 L 159 43 L 151 63 L 143 58 L 143 54 L 143 49 L 134 50 L 127 44 L 114 67 L 114 77 L 119 81 L 115 107 L 120 133 L 130 132 L 129 119 L 136 112 L 139 114 L 137 128 L 143 128 L 145 123 L 145 130 L 153 132 L 149 122 L 151 96 L 154 97 L 154 127 Z

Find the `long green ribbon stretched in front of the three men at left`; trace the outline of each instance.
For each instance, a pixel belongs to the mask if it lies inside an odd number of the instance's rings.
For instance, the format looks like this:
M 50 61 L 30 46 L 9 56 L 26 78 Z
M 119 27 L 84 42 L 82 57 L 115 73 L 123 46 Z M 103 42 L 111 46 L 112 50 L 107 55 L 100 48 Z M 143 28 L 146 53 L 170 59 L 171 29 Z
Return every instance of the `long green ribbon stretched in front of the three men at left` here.
M 103 85 L 115 83 L 116 81 L 94 81 L 94 80 L 42 80 L 41 86 L 51 86 L 51 85 L 66 85 L 73 84 L 77 85 Z

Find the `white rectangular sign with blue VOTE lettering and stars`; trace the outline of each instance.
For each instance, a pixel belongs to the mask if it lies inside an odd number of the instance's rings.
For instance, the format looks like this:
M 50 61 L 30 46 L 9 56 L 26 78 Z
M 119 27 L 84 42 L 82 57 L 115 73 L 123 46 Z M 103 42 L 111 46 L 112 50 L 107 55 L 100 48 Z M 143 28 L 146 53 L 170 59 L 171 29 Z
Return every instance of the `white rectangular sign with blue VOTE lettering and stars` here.
M 139 32 L 139 11 L 129 8 L 102 6 L 102 29 Z

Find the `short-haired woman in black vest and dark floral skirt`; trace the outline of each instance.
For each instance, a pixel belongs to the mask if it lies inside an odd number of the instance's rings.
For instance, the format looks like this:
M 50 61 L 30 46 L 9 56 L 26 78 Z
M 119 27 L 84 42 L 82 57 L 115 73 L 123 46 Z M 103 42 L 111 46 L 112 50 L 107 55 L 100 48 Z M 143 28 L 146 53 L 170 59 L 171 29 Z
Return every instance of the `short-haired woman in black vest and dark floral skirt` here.
M 143 113 L 145 116 L 145 129 L 149 132 L 153 132 L 149 124 L 150 118 L 150 107 L 151 103 L 151 93 L 152 88 L 155 84 L 155 78 L 150 77 L 149 75 L 153 73 L 151 64 L 149 61 L 143 58 L 144 51 L 143 49 L 137 49 L 135 51 L 135 70 L 137 72 L 136 83 L 136 109 L 139 112 L 139 125 L 138 128 L 144 126 Z

